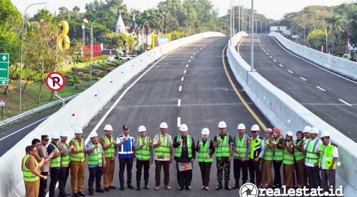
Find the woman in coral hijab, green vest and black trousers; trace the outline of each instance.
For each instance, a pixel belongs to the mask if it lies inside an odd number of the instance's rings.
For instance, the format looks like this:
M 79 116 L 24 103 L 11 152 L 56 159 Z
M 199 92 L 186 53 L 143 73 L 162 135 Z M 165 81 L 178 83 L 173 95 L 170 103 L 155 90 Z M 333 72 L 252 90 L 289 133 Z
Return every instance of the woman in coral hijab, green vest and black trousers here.
M 271 141 L 271 143 L 273 144 L 274 147 L 273 150 L 274 182 L 272 187 L 276 188 L 282 186 L 280 168 L 283 163 L 284 148 L 285 148 L 284 139 L 282 137 L 282 134 L 280 133 L 280 129 L 277 127 L 273 129 L 273 140 Z

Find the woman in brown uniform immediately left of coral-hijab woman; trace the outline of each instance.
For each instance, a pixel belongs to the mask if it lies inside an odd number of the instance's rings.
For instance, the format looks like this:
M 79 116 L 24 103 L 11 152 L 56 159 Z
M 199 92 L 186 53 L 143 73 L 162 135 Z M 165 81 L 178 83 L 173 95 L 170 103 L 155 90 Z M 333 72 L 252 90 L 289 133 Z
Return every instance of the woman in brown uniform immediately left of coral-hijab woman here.
M 267 128 L 265 131 L 265 137 L 263 138 L 265 152 L 262 158 L 261 173 L 262 173 L 262 187 L 267 188 L 273 184 L 273 176 L 271 171 L 271 164 L 273 160 L 274 145 L 271 143 L 273 138 L 271 137 L 273 130 Z

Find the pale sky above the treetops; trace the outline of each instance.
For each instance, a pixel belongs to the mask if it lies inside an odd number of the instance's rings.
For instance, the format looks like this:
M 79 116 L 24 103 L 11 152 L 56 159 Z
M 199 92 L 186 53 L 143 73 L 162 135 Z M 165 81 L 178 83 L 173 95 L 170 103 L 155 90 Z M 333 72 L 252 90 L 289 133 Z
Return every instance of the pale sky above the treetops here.
M 46 7 L 52 13 L 56 10 L 58 12 L 58 8 L 65 6 L 69 9 L 72 9 L 74 6 L 78 6 L 81 8 L 81 12 L 84 12 L 85 5 L 87 3 L 93 2 L 94 0 L 27 0 L 24 3 L 24 0 L 11 0 L 11 2 L 17 7 L 17 9 L 23 13 L 26 7 L 30 4 L 34 3 L 42 3 L 49 2 L 44 5 L 34 5 L 31 6 L 27 13 L 33 15 L 37 12 L 38 9 L 42 9 Z M 148 8 L 156 7 L 158 2 L 162 2 L 163 0 L 124 0 L 124 4 L 128 6 L 128 9 L 136 8 L 144 11 Z M 214 7 L 220 8 L 220 16 L 227 13 L 227 10 L 230 6 L 229 0 L 211 0 Z M 250 0 L 234 0 L 235 5 L 245 4 L 246 7 L 250 8 Z M 335 6 L 343 3 L 351 3 L 353 0 L 254 0 L 254 9 L 257 10 L 258 13 L 264 14 L 267 18 L 272 19 L 281 19 L 285 13 L 289 12 L 297 12 L 302 10 L 306 6 L 310 5 L 324 5 L 324 6 Z

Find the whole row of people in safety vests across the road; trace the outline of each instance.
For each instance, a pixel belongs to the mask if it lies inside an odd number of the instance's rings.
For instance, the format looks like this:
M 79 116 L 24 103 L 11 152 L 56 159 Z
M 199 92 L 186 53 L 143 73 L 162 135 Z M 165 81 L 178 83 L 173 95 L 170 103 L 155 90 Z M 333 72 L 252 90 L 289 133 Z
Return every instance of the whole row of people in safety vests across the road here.
M 279 128 L 268 128 L 265 131 L 265 137 L 261 138 L 260 128 L 256 124 L 251 127 L 250 137 L 246 134 L 246 127 L 242 123 L 238 125 L 237 134 L 233 138 L 227 133 L 227 125 L 224 121 L 219 122 L 218 128 L 219 133 L 214 136 L 213 140 L 209 139 L 209 129 L 203 128 L 202 138 L 196 144 L 192 136 L 188 135 L 186 124 L 180 126 L 180 133 L 172 140 L 167 134 L 168 125 L 165 122 L 160 124 L 160 132 L 154 136 L 153 140 L 146 135 L 145 126 L 138 127 L 139 135 L 134 137 L 129 134 L 128 125 L 123 125 L 123 134 L 115 140 L 112 135 L 113 128 L 109 124 L 105 125 L 104 135 L 101 137 L 98 137 L 96 132 L 91 132 L 90 141 L 86 145 L 82 139 L 81 127 L 74 128 L 75 137 L 70 140 L 69 144 L 67 144 L 68 133 L 66 131 L 60 134 L 52 133 L 51 142 L 49 142 L 49 136 L 43 135 L 41 141 L 33 139 L 32 145 L 26 147 L 26 156 L 22 161 L 26 196 L 46 195 L 49 172 L 51 177 L 49 196 L 55 196 L 57 182 L 60 190 L 58 196 L 69 196 L 70 194 L 65 192 L 69 171 L 73 196 L 85 196 L 83 189 L 87 166 L 89 195 L 94 195 L 94 191 L 103 193 L 116 189 L 113 185 L 116 156 L 119 160 L 121 190 L 126 188 L 125 168 L 127 188 L 134 189 L 131 184 L 131 171 L 135 160 L 137 190 L 142 188 L 143 171 L 143 188 L 149 189 L 149 168 L 153 162 L 155 163 L 155 190 L 160 190 L 161 168 L 164 168 L 164 188 L 170 190 L 169 168 L 173 160 L 175 160 L 177 171 L 178 190 L 191 190 L 193 163 L 197 155 L 202 177 L 201 189 L 208 191 L 214 153 L 218 181 L 216 190 L 223 188 L 231 190 L 229 181 L 232 160 L 235 179 L 232 189 L 240 187 L 241 170 L 242 185 L 248 181 L 248 169 L 249 182 L 256 184 L 257 187 L 281 187 L 282 164 L 286 187 L 308 186 L 311 189 L 321 186 L 325 190 L 330 186 L 334 188 L 338 151 L 337 146 L 329 141 L 328 132 L 323 132 L 320 140 L 318 139 L 319 129 L 306 126 L 303 132 L 296 133 L 297 139 L 293 141 L 292 132 L 287 132 L 284 139 Z M 104 189 L 101 186 L 102 176 Z

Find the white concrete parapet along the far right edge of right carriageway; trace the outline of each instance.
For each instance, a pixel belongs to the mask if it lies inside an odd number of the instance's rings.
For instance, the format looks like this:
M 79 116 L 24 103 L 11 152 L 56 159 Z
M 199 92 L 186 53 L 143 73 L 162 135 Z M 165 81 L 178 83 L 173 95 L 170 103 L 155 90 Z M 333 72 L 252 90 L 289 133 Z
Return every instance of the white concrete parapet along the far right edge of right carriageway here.
M 276 32 L 270 32 L 269 36 L 276 38 L 286 49 L 292 53 L 295 53 L 296 55 L 312 61 L 326 69 L 357 80 L 357 62 L 335 57 L 321 51 L 316 51 L 314 49 L 304 47 L 298 43 L 288 40 Z

